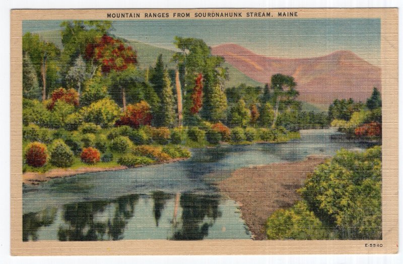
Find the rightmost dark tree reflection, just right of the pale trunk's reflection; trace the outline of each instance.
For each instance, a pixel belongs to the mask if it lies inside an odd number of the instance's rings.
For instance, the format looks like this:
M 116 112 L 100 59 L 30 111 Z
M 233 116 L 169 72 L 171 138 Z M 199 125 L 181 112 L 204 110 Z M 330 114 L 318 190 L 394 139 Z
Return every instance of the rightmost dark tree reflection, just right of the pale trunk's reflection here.
M 218 195 L 183 193 L 180 197 L 182 217 L 177 226 L 174 226 L 172 239 L 203 239 L 215 220 L 222 215 L 218 211 L 218 205 Z

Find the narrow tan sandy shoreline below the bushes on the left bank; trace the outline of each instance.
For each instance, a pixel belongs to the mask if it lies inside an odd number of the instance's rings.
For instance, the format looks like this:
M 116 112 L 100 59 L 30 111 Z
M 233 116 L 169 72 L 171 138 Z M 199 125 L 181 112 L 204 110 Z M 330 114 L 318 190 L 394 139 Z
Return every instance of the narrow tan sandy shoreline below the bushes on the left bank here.
M 113 166 L 113 167 L 97 167 L 96 165 L 94 165 L 94 166 L 79 167 L 79 168 L 74 168 L 74 169 L 72 169 L 72 168 L 52 168 L 46 172 L 30 171 L 30 172 L 25 172 L 22 174 L 22 180 L 23 180 L 22 183 L 38 185 L 40 183 L 47 182 L 52 179 L 73 177 L 75 175 L 84 174 L 84 173 L 123 170 L 123 169 L 128 169 L 128 168 L 138 168 L 138 167 L 143 167 L 143 166 L 172 163 L 172 162 L 182 161 L 182 160 L 186 160 L 186 159 L 188 159 L 188 158 L 174 158 L 174 159 L 171 159 L 168 161 L 155 162 L 152 164 L 139 165 L 139 166 L 135 166 L 135 167 L 127 167 L 127 166 L 123 166 L 123 165 L 117 165 L 117 166 Z

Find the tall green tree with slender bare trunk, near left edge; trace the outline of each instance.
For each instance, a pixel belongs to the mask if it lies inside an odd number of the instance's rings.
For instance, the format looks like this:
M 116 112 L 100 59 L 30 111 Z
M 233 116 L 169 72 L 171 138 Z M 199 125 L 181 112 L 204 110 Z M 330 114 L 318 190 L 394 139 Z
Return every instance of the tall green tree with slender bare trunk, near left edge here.
M 54 60 L 60 54 L 59 49 L 51 42 L 42 41 L 39 35 L 26 33 L 22 39 L 23 52 L 28 53 L 32 63 L 34 64 L 37 74 L 41 76 L 42 82 L 42 100 L 46 100 L 46 80 L 47 73 L 51 71 L 52 79 L 54 79 L 55 67 Z

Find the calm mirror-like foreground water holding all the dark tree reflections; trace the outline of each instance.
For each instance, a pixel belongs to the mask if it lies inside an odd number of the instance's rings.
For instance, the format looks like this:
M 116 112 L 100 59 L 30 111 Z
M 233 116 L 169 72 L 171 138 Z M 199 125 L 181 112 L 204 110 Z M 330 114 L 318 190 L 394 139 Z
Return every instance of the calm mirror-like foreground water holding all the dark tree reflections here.
M 113 200 L 71 203 L 60 208 L 24 214 L 23 240 L 164 238 L 161 234 L 165 234 L 165 239 L 173 240 L 249 238 L 245 226 L 239 221 L 239 215 L 234 217 L 238 214 L 235 205 L 220 205 L 223 201 L 218 194 L 170 194 L 158 191 L 150 195 L 132 194 Z M 226 214 L 224 217 L 223 211 Z M 154 221 L 149 221 L 153 218 Z M 210 229 L 213 232 L 209 236 Z M 227 233 L 222 231 L 227 229 Z

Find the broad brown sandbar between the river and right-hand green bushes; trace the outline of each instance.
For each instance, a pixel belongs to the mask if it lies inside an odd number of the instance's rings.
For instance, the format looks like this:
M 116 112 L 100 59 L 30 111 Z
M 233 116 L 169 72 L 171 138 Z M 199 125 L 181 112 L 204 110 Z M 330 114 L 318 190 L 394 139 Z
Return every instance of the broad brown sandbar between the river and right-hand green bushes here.
M 263 240 L 267 217 L 299 200 L 296 190 L 303 186 L 308 173 L 326 158 L 309 156 L 303 161 L 237 169 L 231 177 L 219 182 L 218 187 L 240 205 L 242 218 L 253 238 Z

